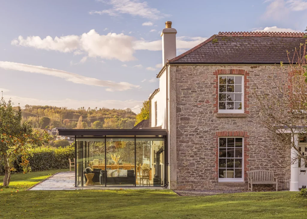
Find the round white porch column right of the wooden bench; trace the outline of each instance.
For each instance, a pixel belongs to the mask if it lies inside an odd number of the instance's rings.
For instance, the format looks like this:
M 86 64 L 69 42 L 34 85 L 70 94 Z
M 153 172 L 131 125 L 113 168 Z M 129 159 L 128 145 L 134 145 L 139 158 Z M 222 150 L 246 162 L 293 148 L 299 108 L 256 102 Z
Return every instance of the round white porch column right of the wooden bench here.
M 292 138 L 293 141 L 293 138 Z M 294 134 L 294 144 L 298 148 L 298 134 Z M 293 162 L 293 160 L 295 160 Z M 298 191 L 298 160 L 297 151 L 291 147 L 291 179 L 290 191 Z

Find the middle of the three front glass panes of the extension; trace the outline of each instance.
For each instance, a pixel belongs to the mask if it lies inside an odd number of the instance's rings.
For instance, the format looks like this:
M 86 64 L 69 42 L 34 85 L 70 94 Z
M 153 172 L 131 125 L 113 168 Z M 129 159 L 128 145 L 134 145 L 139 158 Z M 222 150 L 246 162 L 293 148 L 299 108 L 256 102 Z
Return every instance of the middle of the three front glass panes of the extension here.
M 106 147 L 107 186 L 134 186 L 134 139 L 107 138 Z M 104 183 L 104 173 L 102 175 Z

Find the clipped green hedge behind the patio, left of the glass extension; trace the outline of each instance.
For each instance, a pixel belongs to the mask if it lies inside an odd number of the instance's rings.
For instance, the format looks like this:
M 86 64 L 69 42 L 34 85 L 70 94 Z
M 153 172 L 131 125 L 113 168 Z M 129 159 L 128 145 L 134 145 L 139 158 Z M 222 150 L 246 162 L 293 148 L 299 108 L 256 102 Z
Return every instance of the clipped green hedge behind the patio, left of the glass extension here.
M 52 169 L 68 169 L 70 158 L 73 161 L 75 157 L 75 148 L 74 147 L 65 147 L 57 149 L 41 149 L 34 150 L 29 152 L 29 165 L 31 171 L 43 171 L 43 170 L 52 170 Z M 0 175 L 4 175 L 3 162 L 0 160 Z M 13 166 L 16 169 L 16 172 L 23 172 L 21 163 L 21 156 L 18 156 L 17 159 L 13 162 Z

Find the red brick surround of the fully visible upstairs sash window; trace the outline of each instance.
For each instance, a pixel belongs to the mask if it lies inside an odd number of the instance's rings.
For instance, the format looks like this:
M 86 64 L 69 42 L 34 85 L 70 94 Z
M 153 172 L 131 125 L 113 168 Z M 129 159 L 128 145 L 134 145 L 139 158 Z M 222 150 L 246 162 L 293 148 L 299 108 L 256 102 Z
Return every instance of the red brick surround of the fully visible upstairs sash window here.
M 243 88 L 242 91 L 244 91 L 244 96 L 242 97 L 242 102 L 243 102 L 243 110 L 242 113 L 246 113 L 249 114 L 248 108 L 249 108 L 249 79 L 247 79 L 247 76 L 249 76 L 250 74 L 243 69 L 218 69 L 215 72 L 213 72 L 213 75 L 216 76 L 216 78 L 214 79 L 214 82 L 216 83 L 214 85 L 214 88 L 216 89 L 216 97 L 215 97 L 215 110 L 214 113 L 219 113 L 219 77 L 221 75 L 242 75 L 243 76 Z M 229 112 L 223 111 L 223 113 L 234 113 L 234 111 L 229 110 Z M 238 113 L 238 112 L 237 112 Z

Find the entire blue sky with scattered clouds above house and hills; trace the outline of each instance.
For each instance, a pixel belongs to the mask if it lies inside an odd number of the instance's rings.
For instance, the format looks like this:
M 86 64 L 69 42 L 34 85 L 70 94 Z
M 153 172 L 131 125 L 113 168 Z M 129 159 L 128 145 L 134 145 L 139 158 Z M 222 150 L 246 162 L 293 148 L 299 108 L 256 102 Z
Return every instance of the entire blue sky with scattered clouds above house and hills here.
M 131 108 L 159 87 L 165 21 L 177 55 L 219 32 L 305 32 L 307 0 L 1 1 L 0 91 L 14 105 Z

